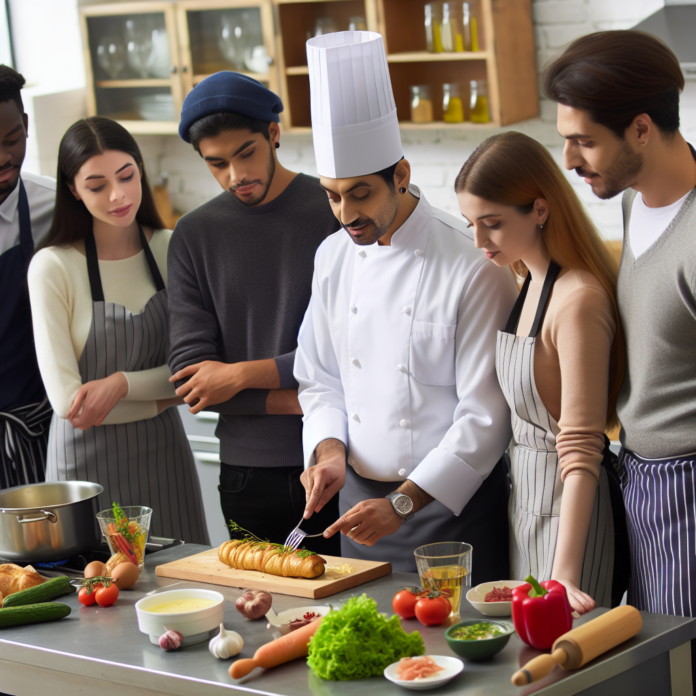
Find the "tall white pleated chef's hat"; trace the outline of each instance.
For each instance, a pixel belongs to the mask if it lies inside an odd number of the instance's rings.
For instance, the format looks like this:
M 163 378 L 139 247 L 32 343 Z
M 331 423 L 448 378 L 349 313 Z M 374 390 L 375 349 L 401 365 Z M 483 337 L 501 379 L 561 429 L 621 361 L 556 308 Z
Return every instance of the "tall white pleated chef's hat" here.
M 342 31 L 307 41 L 312 135 L 321 176 L 374 174 L 404 155 L 382 36 Z

